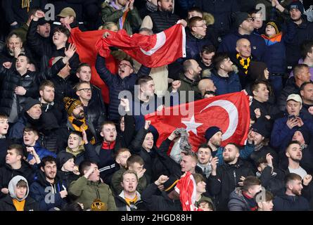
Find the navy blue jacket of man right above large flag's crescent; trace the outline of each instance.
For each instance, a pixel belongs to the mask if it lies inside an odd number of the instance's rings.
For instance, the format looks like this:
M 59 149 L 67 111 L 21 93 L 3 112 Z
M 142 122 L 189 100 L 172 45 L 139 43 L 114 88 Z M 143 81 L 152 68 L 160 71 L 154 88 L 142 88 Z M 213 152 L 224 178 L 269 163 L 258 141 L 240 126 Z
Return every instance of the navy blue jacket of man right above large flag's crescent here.
M 242 90 L 241 82 L 236 72 L 229 73 L 229 77 L 221 77 L 217 74 L 216 70 L 213 70 L 211 79 L 217 88 L 215 91 L 217 95 L 229 94 Z

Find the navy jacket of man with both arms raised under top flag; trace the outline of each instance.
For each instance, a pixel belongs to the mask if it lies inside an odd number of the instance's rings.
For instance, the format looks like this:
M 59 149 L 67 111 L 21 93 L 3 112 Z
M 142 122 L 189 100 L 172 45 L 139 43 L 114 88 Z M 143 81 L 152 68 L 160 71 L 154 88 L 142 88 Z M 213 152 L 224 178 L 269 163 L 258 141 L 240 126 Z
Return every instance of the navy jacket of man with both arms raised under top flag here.
M 110 70 L 106 68 L 106 60 L 101 56 L 96 58 L 96 70 L 98 75 L 101 77 L 103 82 L 106 83 L 110 92 L 110 105 L 109 105 L 109 120 L 120 120 L 118 113 L 118 106 L 120 105 L 120 99 L 118 98 L 120 91 L 134 89 L 136 79 L 143 75 L 149 75 L 151 68 L 146 68 L 141 65 L 137 74 L 132 73 L 131 75 L 122 79 L 119 75 L 113 75 Z

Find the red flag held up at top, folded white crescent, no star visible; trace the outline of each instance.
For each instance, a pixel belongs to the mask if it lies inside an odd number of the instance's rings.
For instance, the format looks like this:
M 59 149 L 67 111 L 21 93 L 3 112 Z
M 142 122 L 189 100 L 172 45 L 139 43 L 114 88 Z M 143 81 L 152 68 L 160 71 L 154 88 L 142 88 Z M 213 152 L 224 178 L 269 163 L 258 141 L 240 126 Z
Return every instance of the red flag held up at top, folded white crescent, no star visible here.
M 149 68 L 167 65 L 177 58 L 186 57 L 186 34 L 182 25 L 177 24 L 153 35 L 133 34 L 125 30 L 110 32 L 110 36 L 96 43 L 98 53 L 106 58 L 109 46 L 122 49 L 129 56 Z

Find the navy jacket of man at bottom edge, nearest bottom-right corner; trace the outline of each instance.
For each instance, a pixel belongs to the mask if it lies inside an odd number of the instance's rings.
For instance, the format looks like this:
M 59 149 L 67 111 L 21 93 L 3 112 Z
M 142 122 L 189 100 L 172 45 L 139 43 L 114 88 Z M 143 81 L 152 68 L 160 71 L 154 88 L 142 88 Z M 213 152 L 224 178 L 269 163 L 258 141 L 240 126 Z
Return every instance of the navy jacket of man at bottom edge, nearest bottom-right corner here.
M 273 203 L 274 211 L 309 211 L 309 202 L 302 196 L 279 195 Z

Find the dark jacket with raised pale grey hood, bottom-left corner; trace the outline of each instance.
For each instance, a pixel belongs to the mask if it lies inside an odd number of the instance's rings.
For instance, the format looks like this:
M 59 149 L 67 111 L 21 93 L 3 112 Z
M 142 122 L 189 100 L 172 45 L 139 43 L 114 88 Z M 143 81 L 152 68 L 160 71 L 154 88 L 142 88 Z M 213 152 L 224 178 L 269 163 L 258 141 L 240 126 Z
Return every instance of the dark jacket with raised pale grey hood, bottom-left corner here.
M 27 193 L 23 199 L 18 199 L 15 193 L 16 184 L 18 181 L 23 180 L 27 184 Z M 6 198 L 0 200 L 0 211 L 16 211 L 16 208 L 13 204 L 13 199 L 15 200 L 25 200 L 24 211 L 39 211 L 38 204 L 34 199 L 28 196 L 30 188 L 28 187 L 28 182 L 23 176 L 14 176 L 8 184 L 8 191 L 10 195 L 7 195 Z

